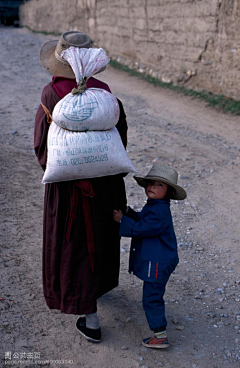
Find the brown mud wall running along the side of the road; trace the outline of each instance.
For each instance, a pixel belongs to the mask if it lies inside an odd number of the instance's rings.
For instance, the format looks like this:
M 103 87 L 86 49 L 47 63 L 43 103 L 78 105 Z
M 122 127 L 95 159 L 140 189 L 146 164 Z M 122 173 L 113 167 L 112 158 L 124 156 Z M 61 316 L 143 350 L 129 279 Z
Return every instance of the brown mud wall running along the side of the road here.
M 85 31 L 131 68 L 240 100 L 240 0 L 31 0 L 20 22 Z

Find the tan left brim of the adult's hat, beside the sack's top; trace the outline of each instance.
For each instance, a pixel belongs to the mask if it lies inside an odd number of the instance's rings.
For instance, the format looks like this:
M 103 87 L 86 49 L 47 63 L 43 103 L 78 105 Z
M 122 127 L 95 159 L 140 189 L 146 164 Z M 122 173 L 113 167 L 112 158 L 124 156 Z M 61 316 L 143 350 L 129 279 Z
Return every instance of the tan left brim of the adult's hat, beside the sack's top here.
M 45 70 L 52 75 L 66 78 L 75 78 L 74 72 L 70 65 L 62 64 L 55 57 L 55 49 L 58 40 L 46 42 L 40 51 L 40 61 Z

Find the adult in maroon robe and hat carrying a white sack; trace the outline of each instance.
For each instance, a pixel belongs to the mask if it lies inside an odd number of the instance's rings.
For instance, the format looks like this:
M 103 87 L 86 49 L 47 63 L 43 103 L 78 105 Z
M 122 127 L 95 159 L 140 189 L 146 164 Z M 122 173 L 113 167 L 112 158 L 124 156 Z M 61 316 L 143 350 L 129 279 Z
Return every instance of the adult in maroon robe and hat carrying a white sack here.
M 72 68 L 60 56 L 70 46 L 92 47 L 88 35 L 69 31 L 59 41 L 44 44 L 40 52 L 42 65 L 54 76 L 43 89 L 35 120 L 34 148 L 43 170 L 47 162 L 49 117 L 56 103 L 77 88 Z M 107 84 L 93 77 L 87 81 L 87 88 L 90 87 L 110 92 Z M 126 115 L 122 103 L 118 102 L 120 118 L 116 127 L 126 147 Z M 97 299 L 118 285 L 119 224 L 112 219 L 112 212 L 114 208 L 123 212 L 126 208 L 123 176 L 45 184 L 43 289 L 46 303 L 50 309 L 64 313 L 85 314 L 78 318 L 76 328 L 93 342 L 101 340 Z

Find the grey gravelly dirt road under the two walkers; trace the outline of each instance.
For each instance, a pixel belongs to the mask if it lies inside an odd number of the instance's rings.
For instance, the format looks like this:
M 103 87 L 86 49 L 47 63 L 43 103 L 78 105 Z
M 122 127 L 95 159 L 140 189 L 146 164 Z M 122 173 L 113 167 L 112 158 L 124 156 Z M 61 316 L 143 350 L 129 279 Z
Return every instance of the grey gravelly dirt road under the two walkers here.
M 0 35 L 0 366 L 239 367 L 239 117 L 110 67 L 99 75 L 124 104 L 128 154 L 139 174 L 158 158 L 178 170 L 188 198 L 171 205 L 180 257 L 165 298 L 171 347 L 141 346 L 150 331 L 142 283 L 127 272 L 126 238 L 120 285 L 99 300 L 103 340 L 88 343 L 74 328 L 76 316 L 50 311 L 42 293 L 44 186 L 33 131 L 41 91 L 50 81 L 38 55 L 51 37 L 4 27 Z M 145 196 L 131 175 L 126 188 L 128 204 L 141 208 Z

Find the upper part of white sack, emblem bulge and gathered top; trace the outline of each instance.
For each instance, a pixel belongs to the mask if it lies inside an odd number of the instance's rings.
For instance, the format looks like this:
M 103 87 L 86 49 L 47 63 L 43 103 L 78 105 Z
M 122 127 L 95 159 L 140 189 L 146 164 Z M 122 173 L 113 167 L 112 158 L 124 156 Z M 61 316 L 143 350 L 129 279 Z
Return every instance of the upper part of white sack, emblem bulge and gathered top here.
M 109 63 L 109 57 L 100 49 L 70 47 L 61 56 L 71 65 L 77 84 Z M 73 131 L 107 130 L 119 119 L 116 97 L 100 88 L 88 88 L 81 94 L 67 94 L 54 107 L 52 117 L 60 127 Z

